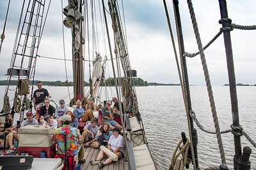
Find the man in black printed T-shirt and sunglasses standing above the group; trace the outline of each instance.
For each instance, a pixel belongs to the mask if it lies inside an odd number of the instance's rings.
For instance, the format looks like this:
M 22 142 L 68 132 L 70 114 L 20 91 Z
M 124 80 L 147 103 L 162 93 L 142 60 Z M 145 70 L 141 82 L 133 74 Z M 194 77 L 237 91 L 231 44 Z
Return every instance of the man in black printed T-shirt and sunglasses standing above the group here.
M 41 81 L 38 81 L 36 85 L 38 89 L 35 90 L 33 94 L 33 103 L 37 113 L 37 110 L 40 110 L 40 108 L 42 108 L 42 106 L 44 105 L 45 97 L 51 98 L 51 96 L 49 95 L 49 92 L 47 91 L 47 89 L 43 89 Z

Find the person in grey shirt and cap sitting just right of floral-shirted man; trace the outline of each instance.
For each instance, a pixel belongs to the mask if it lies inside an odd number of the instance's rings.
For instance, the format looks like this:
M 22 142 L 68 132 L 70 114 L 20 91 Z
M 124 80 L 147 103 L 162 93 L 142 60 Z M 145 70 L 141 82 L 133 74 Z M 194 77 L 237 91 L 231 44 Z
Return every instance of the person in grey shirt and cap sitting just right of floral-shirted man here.
M 84 146 L 92 147 L 92 148 L 99 148 L 99 142 L 97 141 L 97 131 L 99 127 L 97 126 L 97 120 L 96 118 L 92 118 L 90 124 L 87 124 L 84 126 L 84 132 L 82 134 L 83 139 L 85 141 Z

